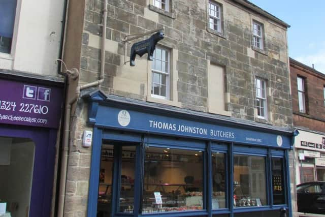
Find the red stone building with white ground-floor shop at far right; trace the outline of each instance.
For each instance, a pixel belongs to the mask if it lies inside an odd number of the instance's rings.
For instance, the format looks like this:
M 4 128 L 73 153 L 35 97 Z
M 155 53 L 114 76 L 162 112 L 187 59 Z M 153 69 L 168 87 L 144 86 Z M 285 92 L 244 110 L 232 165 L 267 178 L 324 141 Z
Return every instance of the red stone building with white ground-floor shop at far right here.
M 325 75 L 290 58 L 295 180 L 325 180 Z

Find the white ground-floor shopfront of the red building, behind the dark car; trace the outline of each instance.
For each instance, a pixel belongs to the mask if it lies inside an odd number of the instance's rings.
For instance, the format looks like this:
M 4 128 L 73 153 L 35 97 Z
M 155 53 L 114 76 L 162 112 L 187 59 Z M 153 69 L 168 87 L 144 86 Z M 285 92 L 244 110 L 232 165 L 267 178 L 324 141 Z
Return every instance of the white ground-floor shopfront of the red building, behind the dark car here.
M 325 134 L 298 129 L 296 183 L 325 181 Z

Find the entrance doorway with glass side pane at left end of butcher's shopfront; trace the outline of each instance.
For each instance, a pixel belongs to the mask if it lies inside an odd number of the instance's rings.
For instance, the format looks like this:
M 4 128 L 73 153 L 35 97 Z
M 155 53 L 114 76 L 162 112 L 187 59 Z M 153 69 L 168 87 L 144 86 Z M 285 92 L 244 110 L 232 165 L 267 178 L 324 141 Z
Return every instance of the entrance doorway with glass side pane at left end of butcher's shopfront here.
M 97 216 L 133 213 L 137 143 L 102 145 Z M 116 209 L 116 210 L 115 210 Z

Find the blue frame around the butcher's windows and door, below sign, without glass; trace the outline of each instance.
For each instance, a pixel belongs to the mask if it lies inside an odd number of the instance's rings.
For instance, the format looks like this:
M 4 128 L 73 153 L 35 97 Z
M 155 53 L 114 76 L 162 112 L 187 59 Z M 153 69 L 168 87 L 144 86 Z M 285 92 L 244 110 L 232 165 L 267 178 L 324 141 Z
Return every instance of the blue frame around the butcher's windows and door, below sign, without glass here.
M 119 201 L 119 189 L 120 189 L 120 164 L 121 164 L 121 143 L 125 144 L 136 143 L 136 171 L 135 171 L 135 202 L 134 202 L 134 212 L 133 213 L 121 213 L 118 209 L 118 202 L 112 204 L 113 215 L 144 215 L 144 216 L 156 216 L 158 213 L 142 213 L 143 207 L 140 201 L 143 201 L 143 182 L 145 167 L 145 147 L 155 147 L 155 148 L 170 148 L 178 150 L 190 150 L 198 151 L 202 153 L 203 158 L 203 198 L 202 198 L 202 209 L 199 211 L 182 211 L 182 212 L 160 212 L 159 216 L 199 216 L 199 215 L 218 215 L 218 214 L 231 214 L 249 212 L 249 211 L 262 211 L 262 210 L 278 210 L 281 207 L 288 208 L 288 203 L 290 203 L 290 195 L 288 194 L 288 169 L 287 169 L 287 151 L 276 150 L 271 148 L 244 146 L 244 145 L 234 145 L 233 143 L 218 143 L 211 141 L 194 140 L 187 138 L 175 138 L 175 137 L 161 137 L 153 135 L 141 135 L 136 133 L 120 133 L 116 131 L 102 131 L 100 129 L 94 128 L 94 142 L 92 150 L 92 160 L 91 160 L 91 176 L 90 176 L 90 188 L 89 188 L 89 203 L 88 203 L 88 215 L 92 216 L 96 213 L 97 199 L 98 199 L 98 183 L 100 174 L 100 156 L 101 156 L 101 146 L 103 140 L 110 140 L 114 144 L 114 178 L 113 178 L 113 198 L 114 201 Z M 115 153 L 116 152 L 116 153 Z M 225 167 L 225 205 L 224 207 L 215 208 L 213 204 L 213 154 L 218 153 L 220 156 L 224 154 L 224 167 Z M 267 203 L 263 204 L 265 206 L 261 207 L 234 207 L 234 173 L 231 172 L 234 168 L 234 156 L 252 156 L 255 158 L 262 158 L 265 164 L 265 179 L 266 179 L 266 200 Z M 284 177 L 284 188 L 285 188 L 285 204 L 274 205 L 273 203 L 273 192 L 272 192 L 272 164 L 273 158 L 282 159 L 282 169 Z M 263 173 L 263 171 L 262 171 Z M 93 187 L 95 186 L 95 187 Z M 221 191 L 222 192 L 222 191 Z M 218 195 L 223 196 L 223 195 Z M 136 202 L 137 201 L 137 202 Z M 220 205 L 220 204 L 219 204 Z

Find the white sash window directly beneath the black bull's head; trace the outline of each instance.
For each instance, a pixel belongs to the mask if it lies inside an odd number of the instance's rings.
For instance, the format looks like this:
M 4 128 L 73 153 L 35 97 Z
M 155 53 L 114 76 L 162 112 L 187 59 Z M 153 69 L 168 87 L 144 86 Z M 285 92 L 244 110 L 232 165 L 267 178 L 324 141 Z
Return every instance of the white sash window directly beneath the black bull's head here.
M 170 50 L 156 46 L 152 61 L 151 96 L 169 99 Z

